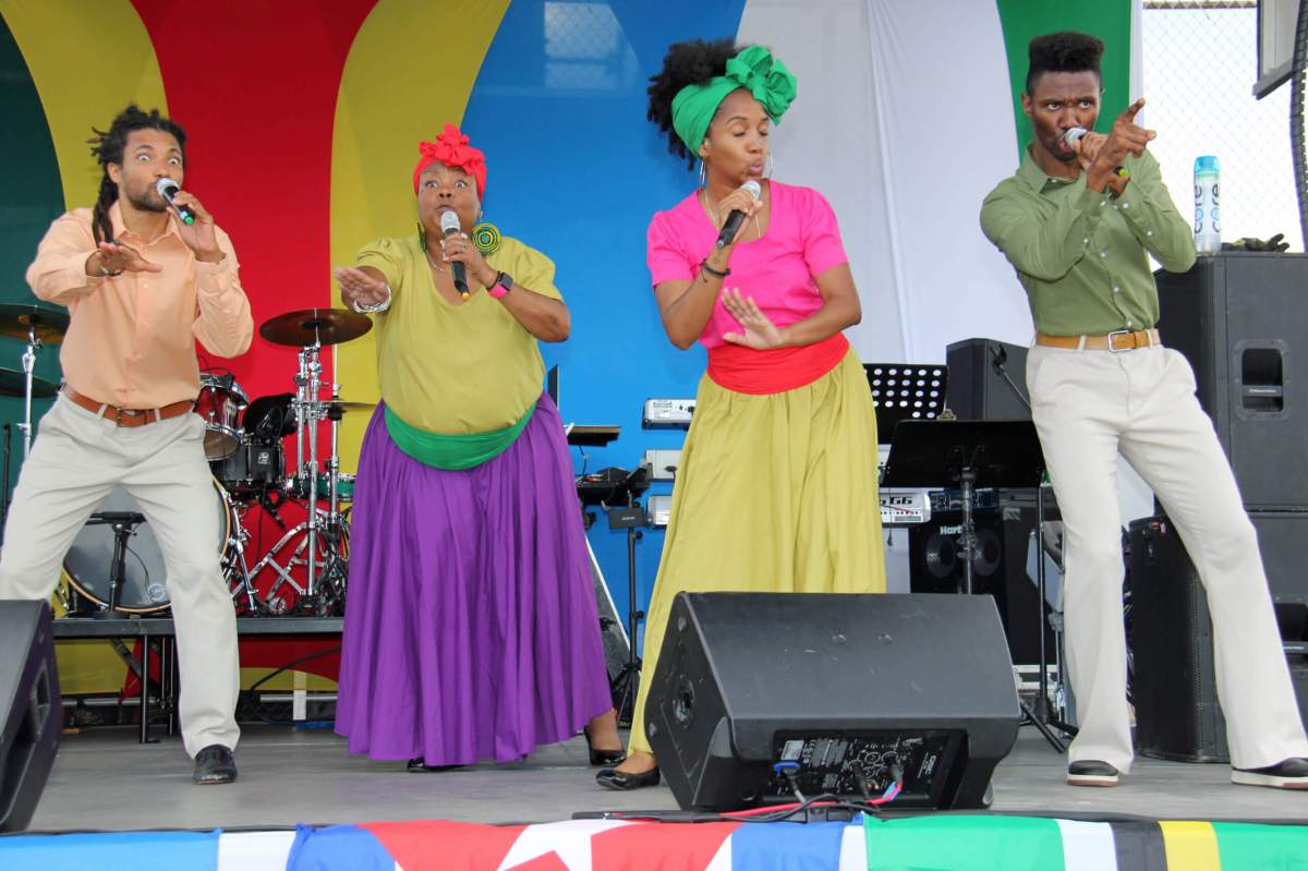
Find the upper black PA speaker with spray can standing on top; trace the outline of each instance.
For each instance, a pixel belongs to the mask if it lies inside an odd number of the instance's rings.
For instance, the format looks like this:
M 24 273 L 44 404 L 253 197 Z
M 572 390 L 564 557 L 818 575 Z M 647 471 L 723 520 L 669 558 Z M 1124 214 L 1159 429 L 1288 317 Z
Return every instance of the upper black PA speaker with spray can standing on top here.
M 1308 510 L 1308 255 L 1222 252 L 1155 276 L 1163 343 L 1190 361 L 1245 506 Z

